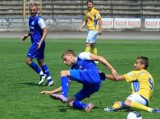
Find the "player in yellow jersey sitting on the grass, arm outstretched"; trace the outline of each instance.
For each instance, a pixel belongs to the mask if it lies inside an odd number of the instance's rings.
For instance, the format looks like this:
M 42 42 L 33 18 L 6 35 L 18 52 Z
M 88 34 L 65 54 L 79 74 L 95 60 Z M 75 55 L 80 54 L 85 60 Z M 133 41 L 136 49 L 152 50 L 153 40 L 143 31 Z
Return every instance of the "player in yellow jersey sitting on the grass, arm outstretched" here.
M 126 80 L 131 83 L 132 94 L 123 102 L 115 102 L 112 108 L 104 108 L 104 111 L 119 111 L 120 109 L 138 109 L 148 112 L 160 112 L 159 109 L 148 107 L 152 98 L 154 89 L 154 80 L 147 71 L 149 66 L 148 58 L 144 56 L 137 57 L 134 67 L 135 70 L 124 75 L 118 75 L 116 78 L 106 74 L 106 78 L 113 81 Z

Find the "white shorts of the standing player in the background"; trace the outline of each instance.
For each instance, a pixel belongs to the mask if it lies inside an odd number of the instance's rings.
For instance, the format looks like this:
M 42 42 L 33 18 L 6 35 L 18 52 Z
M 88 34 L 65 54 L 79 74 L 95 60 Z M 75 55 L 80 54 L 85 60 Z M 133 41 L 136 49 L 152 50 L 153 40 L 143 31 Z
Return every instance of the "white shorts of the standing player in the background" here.
M 86 43 L 95 43 L 97 40 L 98 31 L 88 30 Z

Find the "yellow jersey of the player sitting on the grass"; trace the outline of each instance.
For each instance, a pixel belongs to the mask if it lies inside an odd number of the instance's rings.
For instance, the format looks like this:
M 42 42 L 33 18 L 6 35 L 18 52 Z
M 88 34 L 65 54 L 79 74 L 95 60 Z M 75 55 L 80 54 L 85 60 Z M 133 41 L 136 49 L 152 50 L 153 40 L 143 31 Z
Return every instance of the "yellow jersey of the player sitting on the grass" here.
M 124 74 L 124 77 L 127 82 L 131 82 L 132 94 L 138 93 L 148 101 L 151 99 L 154 89 L 154 79 L 148 71 L 131 71 Z

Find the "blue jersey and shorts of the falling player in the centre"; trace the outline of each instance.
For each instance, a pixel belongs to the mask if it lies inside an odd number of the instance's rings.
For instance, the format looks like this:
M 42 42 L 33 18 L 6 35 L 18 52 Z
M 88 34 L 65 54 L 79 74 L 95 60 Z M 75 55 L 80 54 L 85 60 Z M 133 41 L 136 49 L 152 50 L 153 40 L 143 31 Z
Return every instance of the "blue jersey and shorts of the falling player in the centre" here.
M 89 98 L 99 90 L 101 85 L 99 72 L 94 61 L 90 60 L 89 52 L 82 52 L 78 55 L 76 63 L 70 70 L 70 79 L 83 84 L 83 88 L 74 95 L 76 100 Z

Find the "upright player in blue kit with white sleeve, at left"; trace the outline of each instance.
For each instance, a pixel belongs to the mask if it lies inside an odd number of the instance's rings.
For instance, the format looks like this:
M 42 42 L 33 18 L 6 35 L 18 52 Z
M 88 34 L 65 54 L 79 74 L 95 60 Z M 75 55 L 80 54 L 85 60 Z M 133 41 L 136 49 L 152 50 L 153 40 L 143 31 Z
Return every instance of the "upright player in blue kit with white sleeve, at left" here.
M 38 5 L 36 3 L 31 3 L 29 6 L 29 10 L 31 14 L 31 17 L 29 18 L 30 31 L 21 39 L 22 41 L 25 41 L 30 36 L 32 42 L 32 45 L 28 50 L 26 56 L 26 64 L 40 75 L 40 81 L 38 83 L 39 85 L 41 85 L 44 80 L 47 79 L 46 85 L 51 86 L 54 82 L 50 76 L 48 66 L 44 63 L 44 50 L 45 38 L 47 36 L 47 27 L 44 20 L 37 14 Z M 38 61 L 40 67 L 32 61 L 33 58 Z

